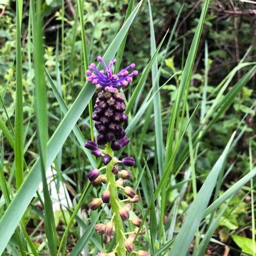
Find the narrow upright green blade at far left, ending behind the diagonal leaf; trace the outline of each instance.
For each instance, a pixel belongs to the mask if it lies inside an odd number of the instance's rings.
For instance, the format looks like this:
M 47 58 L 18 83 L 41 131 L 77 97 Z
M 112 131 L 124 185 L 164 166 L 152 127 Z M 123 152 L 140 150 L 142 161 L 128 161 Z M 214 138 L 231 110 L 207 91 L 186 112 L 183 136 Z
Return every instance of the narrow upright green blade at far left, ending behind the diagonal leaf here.
M 23 175 L 23 88 L 21 56 L 21 17 L 22 0 L 16 1 L 16 100 L 15 100 L 15 176 L 17 189 L 20 188 Z

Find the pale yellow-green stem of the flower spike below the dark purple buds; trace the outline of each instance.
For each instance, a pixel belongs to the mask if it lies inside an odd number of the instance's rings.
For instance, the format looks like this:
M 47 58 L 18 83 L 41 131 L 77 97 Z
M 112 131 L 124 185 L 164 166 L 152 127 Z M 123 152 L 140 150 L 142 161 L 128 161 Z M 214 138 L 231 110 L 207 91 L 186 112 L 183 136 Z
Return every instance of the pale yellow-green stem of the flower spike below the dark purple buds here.
M 124 237 L 123 237 L 123 221 L 119 215 L 119 205 L 118 205 L 118 195 L 116 190 L 116 179 L 115 175 L 112 173 L 112 169 L 114 166 L 114 152 L 111 149 L 110 143 L 107 144 L 107 147 L 105 148 L 106 154 L 109 154 L 112 157 L 112 160 L 108 165 L 106 166 L 106 175 L 107 175 L 107 181 L 110 184 L 109 185 L 109 192 L 110 192 L 110 204 L 112 212 L 115 213 L 113 224 L 115 226 L 115 233 L 116 233 L 116 244 L 119 244 L 117 247 L 117 254 L 118 256 L 125 256 L 126 255 L 126 249 L 124 244 Z

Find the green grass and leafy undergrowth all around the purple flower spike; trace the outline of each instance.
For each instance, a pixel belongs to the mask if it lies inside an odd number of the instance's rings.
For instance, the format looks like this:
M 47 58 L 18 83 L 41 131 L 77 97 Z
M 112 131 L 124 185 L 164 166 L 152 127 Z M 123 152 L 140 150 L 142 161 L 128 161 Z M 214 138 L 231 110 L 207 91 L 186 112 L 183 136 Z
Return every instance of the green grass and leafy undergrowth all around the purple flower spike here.
M 88 207 L 107 187 L 91 186 L 102 163 L 84 147 L 98 134 L 86 79 L 98 55 L 139 71 L 121 89 L 131 143 L 115 153 L 135 159 L 136 251 L 256 255 L 249 2 L 0 0 L 0 255 L 125 254 L 94 230 L 110 207 Z

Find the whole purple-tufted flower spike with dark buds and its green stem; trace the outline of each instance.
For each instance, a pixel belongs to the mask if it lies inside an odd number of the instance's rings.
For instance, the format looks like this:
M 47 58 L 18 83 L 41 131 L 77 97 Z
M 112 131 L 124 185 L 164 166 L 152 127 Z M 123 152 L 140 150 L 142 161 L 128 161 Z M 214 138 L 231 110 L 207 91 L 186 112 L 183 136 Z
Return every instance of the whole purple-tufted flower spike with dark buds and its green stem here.
M 138 256 L 149 256 L 149 253 L 144 250 L 135 251 L 134 238 L 138 234 L 145 234 L 145 228 L 139 229 L 142 220 L 138 217 L 130 218 L 129 211 L 131 204 L 139 201 L 139 195 L 136 194 L 131 186 L 125 186 L 125 180 L 130 179 L 131 172 L 125 169 L 119 169 L 119 165 L 134 166 L 133 157 L 125 157 L 119 160 L 114 157 L 114 151 L 119 151 L 125 147 L 130 140 L 125 136 L 125 130 L 122 128 L 122 123 L 127 121 L 125 111 L 124 97 L 119 89 L 126 87 L 132 81 L 132 76 L 138 74 L 137 70 L 128 72 L 129 69 L 134 69 L 135 64 L 130 64 L 119 73 L 113 74 L 114 59 L 109 66 L 101 57 L 97 57 L 101 61 L 105 70 L 98 70 L 94 63 L 90 64 L 87 70 L 87 81 L 96 84 L 100 89 L 96 104 L 94 105 L 95 112 L 92 119 L 95 121 L 95 128 L 99 132 L 97 143 L 88 140 L 85 147 L 90 149 L 91 153 L 96 157 L 102 157 L 104 164 L 99 169 L 92 169 L 88 172 L 87 177 L 94 187 L 106 184 L 105 190 L 100 198 L 93 198 L 89 204 L 91 210 L 96 210 L 102 204 L 108 204 L 112 209 L 111 219 L 103 224 L 95 225 L 95 230 L 99 235 L 104 235 L 109 239 L 116 233 L 116 247 L 111 253 L 98 253 L 98 256 L 118 256 L 125 255 L 126 252 L 134 252 Z M 99 148 L 99 145 L 105 146 L 104 149 Z M 125 199 L 120 200 L 118 192 L 122 192 Z M 131 221 L 136 227 L 133 231 L 124 233 L 123 221 Z M 140 231 L 139 231 L 140 230 Z M 128 236 L 128 237 L 127 237 Z

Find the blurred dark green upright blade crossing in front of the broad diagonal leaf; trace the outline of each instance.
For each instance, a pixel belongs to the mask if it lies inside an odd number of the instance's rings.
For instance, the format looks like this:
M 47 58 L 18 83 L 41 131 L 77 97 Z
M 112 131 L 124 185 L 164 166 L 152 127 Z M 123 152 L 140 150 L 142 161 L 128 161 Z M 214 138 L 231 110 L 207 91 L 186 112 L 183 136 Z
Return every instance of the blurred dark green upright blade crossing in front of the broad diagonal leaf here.
M 35 66 L 35 109 L 38 124 L 38 144 L 40 151 L 41 178 L 44 191 L 44 215 L 45 215 L 45 233 L 52 256 L 57 253 L 57 234 L 50 198 L 46 170 L 47 170 L 47 142 L 48 142 L 48 116 L 47 116 L 47 88 L 44 79 L 44 48 L 42 34 L 42 3 L 37 0 L 36 3 L 36 24 L 33 31 L 33 43 L 35 46 L 34 66 Z

